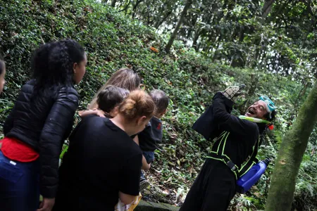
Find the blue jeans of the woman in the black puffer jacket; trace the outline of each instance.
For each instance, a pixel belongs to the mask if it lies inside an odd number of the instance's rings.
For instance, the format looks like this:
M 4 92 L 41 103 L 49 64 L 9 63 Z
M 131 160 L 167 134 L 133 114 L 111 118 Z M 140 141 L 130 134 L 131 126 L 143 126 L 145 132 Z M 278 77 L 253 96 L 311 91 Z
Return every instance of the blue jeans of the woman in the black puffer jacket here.
M 39 159 L 13 161 L 0 151 L 0 210 L 35 211 L 39 207 Z

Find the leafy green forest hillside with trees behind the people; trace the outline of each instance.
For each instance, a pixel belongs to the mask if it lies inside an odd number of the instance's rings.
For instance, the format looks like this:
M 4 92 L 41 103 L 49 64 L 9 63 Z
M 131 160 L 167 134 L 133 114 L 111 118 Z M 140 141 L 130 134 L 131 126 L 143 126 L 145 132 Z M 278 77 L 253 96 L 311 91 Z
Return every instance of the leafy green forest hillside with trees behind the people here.
M 247 84 L 235 115 L 244 114 L 259 94 L 273 99 L 278 117 L 259 158 L 277 157 L 317 76 L 316 20 L 312 0 L 0 0 L 0 53 L 7 66 L 0 127 L 30 79 L 32 51 L 47 41 L 76 39 L 88 57 L 77 86 L 79 109 L 123 67 L 138 72 L 147 91 L 161 89 L 170 97 L 144 198 L 181 205 L 211 149 L 191 126 L 216 91 Z M 317 209 L 316 139 L 313 129 L 292 210 Z M 237 194 L 230 210 L 263 210 L 273 168 L 274 162 L 251 191 Z

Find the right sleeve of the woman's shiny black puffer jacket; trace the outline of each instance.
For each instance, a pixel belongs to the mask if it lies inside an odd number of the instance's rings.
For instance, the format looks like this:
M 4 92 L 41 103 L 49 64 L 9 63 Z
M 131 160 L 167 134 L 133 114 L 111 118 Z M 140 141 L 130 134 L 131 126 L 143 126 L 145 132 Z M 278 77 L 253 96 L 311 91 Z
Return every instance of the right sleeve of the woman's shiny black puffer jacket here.
M 70 133 L 69 128 L 73 124 L 77 106 L 75 89 L 61 89 L 42 129 L 39 139 L 40 192 L 45 198 L 54 198 L 56 195 L 59 154 L 63 139 Z

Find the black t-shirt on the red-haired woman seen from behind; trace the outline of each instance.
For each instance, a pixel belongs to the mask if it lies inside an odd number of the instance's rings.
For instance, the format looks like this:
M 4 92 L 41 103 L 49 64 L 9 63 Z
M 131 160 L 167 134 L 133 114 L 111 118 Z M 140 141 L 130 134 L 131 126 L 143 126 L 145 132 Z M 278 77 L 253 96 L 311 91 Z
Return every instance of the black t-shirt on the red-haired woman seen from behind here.
M 119 191 L 137 196 L 142 151 L 111 120 L 85 117 L 60 168 L 56 210 L 114 210 Z

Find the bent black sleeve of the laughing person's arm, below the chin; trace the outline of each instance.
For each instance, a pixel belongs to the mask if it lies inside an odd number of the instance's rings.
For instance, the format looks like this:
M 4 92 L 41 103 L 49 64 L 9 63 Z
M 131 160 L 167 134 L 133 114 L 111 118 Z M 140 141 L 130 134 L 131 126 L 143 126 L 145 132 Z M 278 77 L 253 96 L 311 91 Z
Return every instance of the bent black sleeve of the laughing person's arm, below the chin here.
M 241 120 L 235 115 L 228 113 L 228 100 L 223 94 L 218 93 L 213 98 L 213 115 L 215 121 L 218 123 L 220 129 L 235 134 L 250 134 L 250 132 L 256 131 L 256 124 L 248 120 Z

